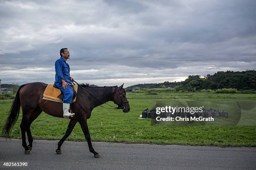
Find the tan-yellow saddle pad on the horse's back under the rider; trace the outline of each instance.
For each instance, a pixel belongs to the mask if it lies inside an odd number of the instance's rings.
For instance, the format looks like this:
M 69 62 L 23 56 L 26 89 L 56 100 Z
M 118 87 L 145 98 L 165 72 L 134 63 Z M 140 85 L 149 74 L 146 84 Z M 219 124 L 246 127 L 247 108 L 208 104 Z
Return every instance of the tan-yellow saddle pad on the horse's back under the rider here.
M 76 101 L 77 98 L 77 87 L 78 85 L 73 85 L 74 95 L 72 102 Z M 64 94 L 63 92 L 54 84 L 54 85 L 47 85 L 46 89 L 44 90 L 43 95 L 44 100 L 51 100 L 54 102 L 63 102 Z

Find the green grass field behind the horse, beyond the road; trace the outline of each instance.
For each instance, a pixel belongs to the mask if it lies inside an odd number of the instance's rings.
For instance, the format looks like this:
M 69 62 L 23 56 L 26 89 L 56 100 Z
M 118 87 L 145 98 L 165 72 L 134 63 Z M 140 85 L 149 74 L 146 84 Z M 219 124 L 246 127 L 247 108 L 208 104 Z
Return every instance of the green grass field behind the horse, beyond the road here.
M 181 92 L 158 93 L 127 93 L 131 111 L 123 113 L 121 110 L 110 110 L 97 107 L 88 120 L 90 135 L 93 141 L 125 142 L 125 143 L 155 143 L 178 145 L 230 145 L 256 146 L 256 126 L 151 126 L 150 119 L 138 119 L 141 112 L 151 108 L 154 101 L 175 100 L 246 100 L 256 101 L 256 94 L 216 94 L 210 92 Z M 0 130 L 8 117 L 12 100 L 0 100 Z M 111 103 L 111 102 L 109 102 Z M 253 108 L 250 114 L 256 115 Z M 251 116 L 251 115 L 250 115 Z M 21 138 L 20 120 L 16 122 L 11 138 Z M 254 116 L 255 117 L 255 116 Z M 251 120 L 248 114 L 243 114 L 241 120 Z M 255 119 L 254 119 L 255 120 Z M 52 117 L 42 112 L 32 123 L 31 132 L 34 139 L 59 140 L 65 134 L 69 120 Z M 75 126 L 67 140 L 85 141 L 79 123 Z

